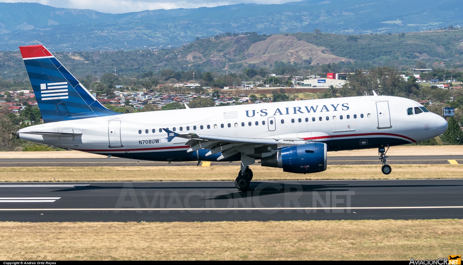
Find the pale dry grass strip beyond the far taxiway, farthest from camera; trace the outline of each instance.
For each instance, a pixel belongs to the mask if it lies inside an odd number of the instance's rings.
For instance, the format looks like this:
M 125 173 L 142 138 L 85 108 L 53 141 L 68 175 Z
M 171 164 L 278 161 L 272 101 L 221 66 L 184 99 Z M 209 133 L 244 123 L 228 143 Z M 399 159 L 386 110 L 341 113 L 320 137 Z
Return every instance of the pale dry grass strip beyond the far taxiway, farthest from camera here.
M 328 152 L 328 156 L 376 156 L 378 149 Z M 463 145 L 414 145 L 394 146 L 388 151 L 390 156 L 416 155 L 463 155 Z M 81 151 L 49 152 L 0 152 L 0 158 L 105 158 L 105 156 Z

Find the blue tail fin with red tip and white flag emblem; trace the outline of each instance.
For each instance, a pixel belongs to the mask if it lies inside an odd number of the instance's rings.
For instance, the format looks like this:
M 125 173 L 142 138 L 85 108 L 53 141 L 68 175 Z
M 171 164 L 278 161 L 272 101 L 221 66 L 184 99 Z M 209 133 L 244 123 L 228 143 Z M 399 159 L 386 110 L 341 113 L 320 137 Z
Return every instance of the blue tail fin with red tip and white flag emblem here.
M 101 105 L 44 46 L 19 49 L 44 122 L 120 114 Z

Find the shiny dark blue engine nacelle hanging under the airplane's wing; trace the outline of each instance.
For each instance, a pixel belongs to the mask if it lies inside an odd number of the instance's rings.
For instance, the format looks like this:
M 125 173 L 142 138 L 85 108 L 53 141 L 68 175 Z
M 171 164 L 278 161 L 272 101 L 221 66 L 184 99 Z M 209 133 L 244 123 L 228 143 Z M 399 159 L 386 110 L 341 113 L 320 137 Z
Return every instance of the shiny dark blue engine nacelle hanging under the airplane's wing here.
M 326 170 L 326 149 L 325 143 L 285 146 L 274 156 L 262 158 L 261 165 L 291 173 L 321 172 Z

